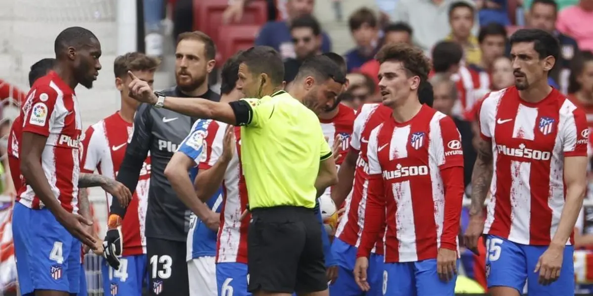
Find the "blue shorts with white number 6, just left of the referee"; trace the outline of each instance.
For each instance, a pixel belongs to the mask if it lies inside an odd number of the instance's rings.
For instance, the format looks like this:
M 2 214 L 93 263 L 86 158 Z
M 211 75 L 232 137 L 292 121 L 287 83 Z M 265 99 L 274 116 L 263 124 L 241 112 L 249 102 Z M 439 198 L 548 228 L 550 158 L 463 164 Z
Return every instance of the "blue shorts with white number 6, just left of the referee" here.
M 249 274 L 245 263 L 216 263 L 216 288 L 218 295 L 251 296 L 247 292 Z

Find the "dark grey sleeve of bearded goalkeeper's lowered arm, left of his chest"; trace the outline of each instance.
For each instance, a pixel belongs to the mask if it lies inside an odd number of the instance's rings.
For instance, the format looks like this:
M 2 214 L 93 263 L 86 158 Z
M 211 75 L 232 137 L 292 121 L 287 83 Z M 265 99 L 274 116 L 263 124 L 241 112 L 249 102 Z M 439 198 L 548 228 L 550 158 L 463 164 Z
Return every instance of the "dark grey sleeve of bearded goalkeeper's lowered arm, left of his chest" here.
M 119 172 L 117 172 L 117 181 L 126 186 L 132 194 L 136 190 L 140 170 L 152 144 L 151 108 L 148 104 L 142 104 L 138 107 L 136 116 L 134 117 L 132 140 L 127 144 L 126 155 L 123 157 Z M 113 198 L 110 213 L 117 214 L 123 218 L 126 214 L 126 208 L 117 201 L 117 198 Z

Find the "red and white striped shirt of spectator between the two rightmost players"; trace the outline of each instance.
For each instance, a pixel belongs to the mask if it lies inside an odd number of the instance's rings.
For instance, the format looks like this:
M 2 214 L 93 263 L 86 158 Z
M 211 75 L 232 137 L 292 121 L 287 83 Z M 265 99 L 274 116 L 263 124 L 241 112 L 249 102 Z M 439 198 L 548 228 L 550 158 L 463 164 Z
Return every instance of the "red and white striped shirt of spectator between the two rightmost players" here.
M 451 79 L 458 91 L 458 100 L 451 112 L 463 118 L 490 91 L 490 75 L 486 71 L 460 66 Z

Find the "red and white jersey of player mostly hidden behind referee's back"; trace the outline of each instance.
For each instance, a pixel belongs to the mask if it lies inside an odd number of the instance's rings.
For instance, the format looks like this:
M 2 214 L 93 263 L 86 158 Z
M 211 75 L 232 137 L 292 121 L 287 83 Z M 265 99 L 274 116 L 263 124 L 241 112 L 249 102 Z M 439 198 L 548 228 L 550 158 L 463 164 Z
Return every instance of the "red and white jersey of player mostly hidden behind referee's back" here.
M 350 136 L 352 136 L 352 128 L 354 125 L 356 112 L 344 104 L 339 104 L 337 108 L 338 113 L 336 116 L 331 119 L 319 118 L 319 122 L 321 123 L 323 136 L 327 137 L 327 143 L 330 144 L 330 147 L 333 147 L 336 137 L 340 137 L 342 139 L 342 146 L 340 146 L 340 150 L 338 152 L 340 157 L 336 160 L 336 167 L 337 169 L 340 169 L 340 165 L 342 165 L 342 162 L 344 162 L 344 159 L 346 158 L 348 147 L 350 147 Z M 331 187 L 326 188 L 326 191 L 323 192 L 323 195 L 327 195 L 329 197 L 331 195 Z M 340 207 L 340 205 L 336 206 Z

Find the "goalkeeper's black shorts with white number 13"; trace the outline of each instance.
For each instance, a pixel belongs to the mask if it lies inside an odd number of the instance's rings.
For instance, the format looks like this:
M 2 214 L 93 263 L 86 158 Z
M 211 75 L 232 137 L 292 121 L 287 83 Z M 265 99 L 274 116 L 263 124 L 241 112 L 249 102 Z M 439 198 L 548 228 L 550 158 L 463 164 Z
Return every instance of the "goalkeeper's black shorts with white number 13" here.
M 186 242 L 146 237 L 149 295 L 189 295 L 186 249 Z

